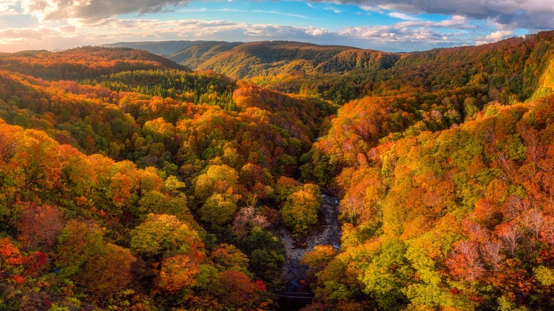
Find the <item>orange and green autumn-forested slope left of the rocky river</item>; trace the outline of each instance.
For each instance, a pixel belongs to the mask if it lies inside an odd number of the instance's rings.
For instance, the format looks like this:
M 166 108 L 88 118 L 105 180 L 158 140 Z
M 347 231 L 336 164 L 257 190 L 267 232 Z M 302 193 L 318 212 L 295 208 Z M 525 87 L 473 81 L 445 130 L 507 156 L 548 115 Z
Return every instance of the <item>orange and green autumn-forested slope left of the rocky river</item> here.
M 317 222 L 317 185 L 293 178 L 336 108 L 213 72 L 107 68 L 0 70 L 0 305 L 275 308 L 280 207 L 303 195 L 310 222 L 290 227 Z

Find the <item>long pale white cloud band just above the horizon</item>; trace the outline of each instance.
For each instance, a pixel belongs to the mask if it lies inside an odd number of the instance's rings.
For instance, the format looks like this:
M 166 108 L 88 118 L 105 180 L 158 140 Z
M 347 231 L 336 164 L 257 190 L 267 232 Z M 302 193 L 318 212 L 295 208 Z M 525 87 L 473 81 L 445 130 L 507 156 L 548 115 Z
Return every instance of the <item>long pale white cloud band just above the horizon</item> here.
M 442 23 L 442 22 L 441 22 Z M 454 23 L 446 20 L 444 23 Z M 410 26 L 410 27 L 408 27 Z M 424 21 L 405 21 L 392 26 L 359 26 L 330 31 L 319 27 L 232 21 L 107 18 L 94 26 L 8 28 L 0 30 L 2 45 L 13 50 L 70 48 L 119 41 L 156 40 L 297 40 L 318 44 L 351 45 L 386 51 L 426 50 L 437 46 L 474 44 L 463 33 L 441 33 Z M 487 40 L 487 38 L 482 38 Z

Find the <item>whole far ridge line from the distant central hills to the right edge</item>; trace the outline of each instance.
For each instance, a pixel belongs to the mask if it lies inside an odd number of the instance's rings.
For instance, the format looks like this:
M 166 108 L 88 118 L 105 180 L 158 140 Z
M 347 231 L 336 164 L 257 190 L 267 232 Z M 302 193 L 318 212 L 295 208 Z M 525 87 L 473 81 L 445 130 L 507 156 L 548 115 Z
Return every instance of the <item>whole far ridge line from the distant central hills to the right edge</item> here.
M 382 89 L 391 92 L 389 84 L 396 78 L 400 78 L 403 87 L 428 90 L 489 84 L 491 80 L 499 92 L 509 87 L 519 99 L 526 99 L 535 92 L 548 92 L 536 91 L 538 84 L 549 82 L 548 77 L 541 77 L 545 82 L 539 81 L 533 72 L 542 72 L 548 65 L 545 55 L 550 53 L 553 36 L 554 31 L 543 31 L 485 45 L 413 53 L 295 41 L 206 41 L 168 57 L 192 70 L 213 70 L 285 93 L 318 94 L 337 104 L 360 99 L 364 94 L 381 94 Z

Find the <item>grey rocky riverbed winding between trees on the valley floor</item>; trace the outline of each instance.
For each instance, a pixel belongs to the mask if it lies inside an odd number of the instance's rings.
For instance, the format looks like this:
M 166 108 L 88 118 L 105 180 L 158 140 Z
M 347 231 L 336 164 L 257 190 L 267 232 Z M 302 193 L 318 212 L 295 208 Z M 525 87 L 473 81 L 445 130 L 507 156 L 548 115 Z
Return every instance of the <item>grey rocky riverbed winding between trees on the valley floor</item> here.
M 284 285 L 288 285 L 296 278 L 306 278 L 308 266 L 301 265 L 300 259 L 305 253 L 312 251 L 314 246 L 332 245 L 336 249 L 340 248 L 342 231 L 337 219 L 339 200 L 332 195 L 324 194 L 322 197 L 320 222 L 315 225 L 315 229 L 310 231 L 310 234 L 295 238 L 285 228 L 278 231 L 278 237 L 285 246 L 286 259 L 281 271 L 281 280 Z

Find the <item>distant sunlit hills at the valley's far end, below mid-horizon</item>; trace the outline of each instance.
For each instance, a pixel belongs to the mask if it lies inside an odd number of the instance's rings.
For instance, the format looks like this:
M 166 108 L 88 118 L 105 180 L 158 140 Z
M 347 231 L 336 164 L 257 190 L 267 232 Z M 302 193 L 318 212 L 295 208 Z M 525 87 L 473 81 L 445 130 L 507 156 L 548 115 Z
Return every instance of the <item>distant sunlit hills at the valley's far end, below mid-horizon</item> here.
M 161 41 L 102 46 L 147 50 L 193 70 L 215 70 L 237 79 L 277 76 L 295 70 L 321 74 L 344 73 L 354 69 L 387 69 L 403 55 L 292 41 Z

